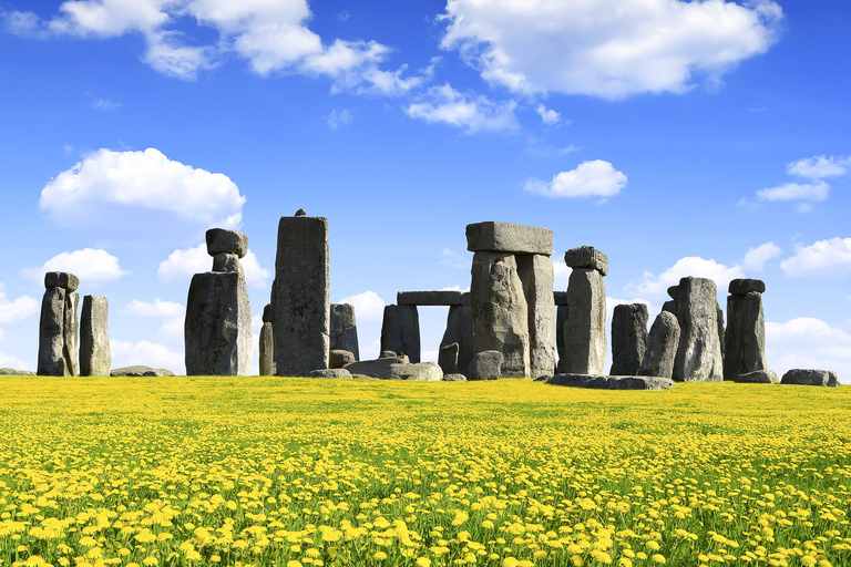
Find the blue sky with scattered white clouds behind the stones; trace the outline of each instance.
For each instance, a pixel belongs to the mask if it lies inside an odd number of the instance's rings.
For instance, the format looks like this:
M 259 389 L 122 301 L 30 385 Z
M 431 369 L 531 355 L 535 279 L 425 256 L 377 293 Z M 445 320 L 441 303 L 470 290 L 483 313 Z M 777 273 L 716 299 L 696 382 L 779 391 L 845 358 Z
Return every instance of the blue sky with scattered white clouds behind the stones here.
M 113 367 L 183 372 L 204 231 L 329 221 L 361 353 L 399 290 L 465 289 L 464 227 L 609 258 L 609 313 L 757 277 L 771 369 L 851 382 L 851 4 L 756 0 L 0 0 L 0 367 L 34 369 L 42 276 L 110 301 Z M 421 309 L 437 359 L 445 309 Z M 258 331 L 255 323 L 255 332 Z M 255 355 L 255 367 L 257 358 Z

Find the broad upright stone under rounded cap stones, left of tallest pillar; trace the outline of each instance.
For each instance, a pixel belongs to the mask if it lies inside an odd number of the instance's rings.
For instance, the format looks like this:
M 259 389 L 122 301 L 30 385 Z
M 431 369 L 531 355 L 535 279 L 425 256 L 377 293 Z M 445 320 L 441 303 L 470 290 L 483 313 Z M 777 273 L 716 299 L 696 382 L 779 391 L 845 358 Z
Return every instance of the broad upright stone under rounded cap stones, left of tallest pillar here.
M 233 271 L 193 276 L 184 342 L 187 375 L 250 373 L 252 307 L 245 278 Z

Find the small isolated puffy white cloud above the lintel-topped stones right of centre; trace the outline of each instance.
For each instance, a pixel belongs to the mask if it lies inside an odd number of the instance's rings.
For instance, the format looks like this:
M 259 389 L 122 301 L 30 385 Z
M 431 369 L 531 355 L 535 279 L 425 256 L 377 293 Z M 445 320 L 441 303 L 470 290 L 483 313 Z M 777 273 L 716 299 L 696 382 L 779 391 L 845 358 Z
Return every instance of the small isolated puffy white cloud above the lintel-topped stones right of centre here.
M 582 162 L 575 169 L 561 172 L 550 183 L 531 178 L 523 187 L 545 197 L 613 197 L 626 187 L 626 175 L 603 159 Z

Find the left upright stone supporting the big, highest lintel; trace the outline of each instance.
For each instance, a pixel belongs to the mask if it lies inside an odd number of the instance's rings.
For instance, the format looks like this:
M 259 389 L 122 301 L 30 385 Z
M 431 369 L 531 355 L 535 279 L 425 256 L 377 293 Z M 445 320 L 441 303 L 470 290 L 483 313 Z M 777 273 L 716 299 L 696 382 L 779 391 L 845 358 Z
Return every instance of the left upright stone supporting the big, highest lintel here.
M 473 352 L 502 352 L 503 377 L 529 377 L 529 309 L 515 256 L 478 251 L 470 285 Z

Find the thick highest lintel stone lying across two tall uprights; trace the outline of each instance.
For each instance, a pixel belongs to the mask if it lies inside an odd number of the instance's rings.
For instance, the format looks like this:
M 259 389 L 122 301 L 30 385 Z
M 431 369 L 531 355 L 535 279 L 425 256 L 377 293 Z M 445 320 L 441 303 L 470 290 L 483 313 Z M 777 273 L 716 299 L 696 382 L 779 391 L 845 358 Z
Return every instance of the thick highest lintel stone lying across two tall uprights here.
M 466 225 L 466 249 L 471 252 L 525 252 L 553 255 L 553 230 L 512 223 Z

